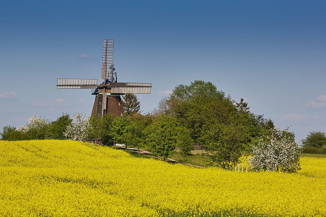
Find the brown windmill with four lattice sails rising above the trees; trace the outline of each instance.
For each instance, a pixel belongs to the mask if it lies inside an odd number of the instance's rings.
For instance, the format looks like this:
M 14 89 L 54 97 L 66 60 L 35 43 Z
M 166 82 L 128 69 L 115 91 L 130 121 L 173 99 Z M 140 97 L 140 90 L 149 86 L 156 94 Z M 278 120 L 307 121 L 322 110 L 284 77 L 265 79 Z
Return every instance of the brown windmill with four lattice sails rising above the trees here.
M 57 79 L 57 89 L 93 89 L 95 95 L 91 116 L 98 118 L 104 114 L 122 116 L 122 94 L 150 94 L 150 83 L 117 82 L 117 73 L 113 65 L 113 40 L 103 40 L 102 74 L 104 81 L 97 85 L 97 79 Z

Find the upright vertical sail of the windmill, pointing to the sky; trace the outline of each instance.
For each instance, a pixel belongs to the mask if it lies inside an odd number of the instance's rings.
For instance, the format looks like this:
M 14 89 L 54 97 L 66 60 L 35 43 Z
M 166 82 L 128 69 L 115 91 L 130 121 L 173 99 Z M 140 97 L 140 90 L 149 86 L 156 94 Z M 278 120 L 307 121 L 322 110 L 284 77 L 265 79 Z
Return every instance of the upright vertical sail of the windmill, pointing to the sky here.
M 102 54 L 102 79 L 113 79 L 113 40 L 103 40 L 103 54 Z

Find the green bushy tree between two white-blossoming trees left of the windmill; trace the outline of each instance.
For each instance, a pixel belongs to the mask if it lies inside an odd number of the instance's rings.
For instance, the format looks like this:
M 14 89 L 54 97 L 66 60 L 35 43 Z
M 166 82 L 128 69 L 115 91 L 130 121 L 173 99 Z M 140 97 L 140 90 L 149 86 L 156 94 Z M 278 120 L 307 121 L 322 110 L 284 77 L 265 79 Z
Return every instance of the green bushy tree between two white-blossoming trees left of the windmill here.
M 67 126 L 72 123 L 69 114 L 62 113 L 62 116 L 53 121 L 47 131 L 47 137 L 50 139 L 65 139 L 64 132 Z

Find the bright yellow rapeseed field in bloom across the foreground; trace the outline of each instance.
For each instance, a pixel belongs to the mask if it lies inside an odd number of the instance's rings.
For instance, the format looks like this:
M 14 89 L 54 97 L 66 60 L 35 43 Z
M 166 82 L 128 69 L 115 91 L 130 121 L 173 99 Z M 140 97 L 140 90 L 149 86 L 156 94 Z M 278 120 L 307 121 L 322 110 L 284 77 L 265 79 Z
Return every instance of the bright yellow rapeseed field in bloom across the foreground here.
M 69 140 L 0 141 L 0 216 L 326 216 L 326 158 L 297 174 L 135 158 Z

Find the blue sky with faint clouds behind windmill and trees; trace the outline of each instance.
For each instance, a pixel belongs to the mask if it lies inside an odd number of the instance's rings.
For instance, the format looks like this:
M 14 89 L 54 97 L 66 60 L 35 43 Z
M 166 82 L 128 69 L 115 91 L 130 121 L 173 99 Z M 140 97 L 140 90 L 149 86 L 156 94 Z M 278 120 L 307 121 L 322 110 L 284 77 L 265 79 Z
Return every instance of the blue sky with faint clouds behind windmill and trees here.
M 0 131 L 34 114 L 90 114 L 102 41 L 114 39 L 118 81 L 152 83 L 144 112 L 194 80 L 290 130 L 326 131 L 325 1 L 1 1 Z

